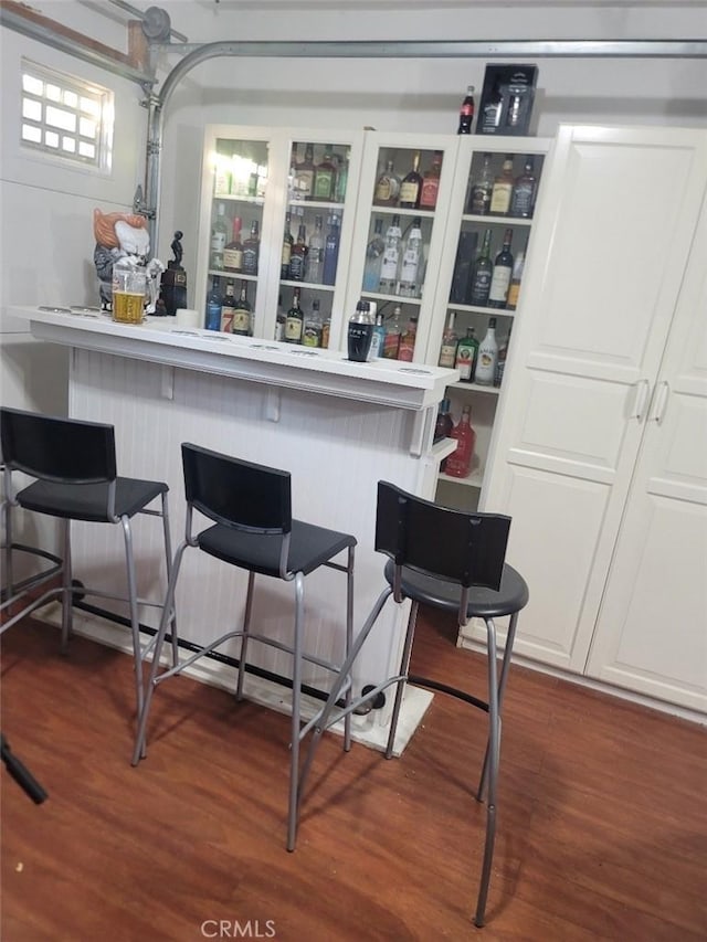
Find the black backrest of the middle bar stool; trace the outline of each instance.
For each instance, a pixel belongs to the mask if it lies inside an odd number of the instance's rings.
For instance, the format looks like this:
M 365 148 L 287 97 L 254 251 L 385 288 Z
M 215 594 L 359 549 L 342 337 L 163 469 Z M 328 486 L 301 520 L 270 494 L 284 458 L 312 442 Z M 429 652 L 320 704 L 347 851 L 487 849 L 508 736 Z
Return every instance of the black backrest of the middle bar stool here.
M 189 507 L 226 527 L 258 533 L 292 530 L 287 472 L 255 465 L 188 442 L 181 446 Z

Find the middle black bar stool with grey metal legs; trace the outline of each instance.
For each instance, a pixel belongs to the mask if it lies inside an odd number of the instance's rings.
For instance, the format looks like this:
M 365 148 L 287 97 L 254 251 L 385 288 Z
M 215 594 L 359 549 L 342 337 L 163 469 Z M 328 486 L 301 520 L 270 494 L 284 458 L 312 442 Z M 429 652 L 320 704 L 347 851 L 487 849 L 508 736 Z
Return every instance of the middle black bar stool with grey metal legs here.
M 160 682 L 180 674 L 184 668 L 214 650 L 229 638 L 241 637 L 235 690 L 236 698 L 240 699 L 243 695 L 249 642 L 260 642 L 287 652 L 293 656 L 289 808 L 287 818 L 287 849 L 292 850 L 295 846 L 298 822 L 299 743 L 316 721 L 315 717 L 303 726 L 300 710 L 303 661 L 316 664 L 334 675 L 338 675 L 340 667 L 338 663 L 331 664 L 303 650 L 305 576 L 323 565 L 346 573 L 346 648 L 344 652 L 344 657 L 346 657 L 352 642 L 354 548 L 356 538 L 349 533 L 293 520 L 291 476 L 287 472 L 240 461 L 187 443 L 182 444 L 181 451 L 187 498 L 186 536 L 175 555 L 162 620 L 157 634 L 155 656 L 145 692 L 145 705 L 135 742 L 133 764 L 136 765 L 146 753 L 147 720 L 152 694 Z M 194 533 L 192 529 L 194 511 L 212 520 L 214 526 Z M 177 580 L 184 551 L 189 547 L 196 547 L 230 565 L 239 567 L 249 572 L 243 627 L 225 632 L 209 644 L 201 646 L 181 664 L 176 664 L 173 667 L 159 673 L 160 652 L 173 605 Z M 334 558 L 344 550 L 347 551 L 347 564 L 334 562 Z M 251 611 L 256 574 L 295 583 L 295 627 L 292 645 L 286 645 L 251 629 Z M 348 703 L 350 700 L 350 679 L 348 677 L 338 680 L 338 694 L 344 696 L 345 702 Z M 347 713 L 344 734 L 345 751 L 350 749 L 350 715 Z

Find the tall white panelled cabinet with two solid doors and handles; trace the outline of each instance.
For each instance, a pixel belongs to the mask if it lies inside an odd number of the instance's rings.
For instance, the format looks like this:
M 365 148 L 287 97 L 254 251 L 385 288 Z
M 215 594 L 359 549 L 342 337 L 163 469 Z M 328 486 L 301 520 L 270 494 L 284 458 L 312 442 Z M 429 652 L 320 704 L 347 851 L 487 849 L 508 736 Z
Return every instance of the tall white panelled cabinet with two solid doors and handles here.
M 562 127 L 482 507 L 517 652 L 705 709 L 707 134 Z

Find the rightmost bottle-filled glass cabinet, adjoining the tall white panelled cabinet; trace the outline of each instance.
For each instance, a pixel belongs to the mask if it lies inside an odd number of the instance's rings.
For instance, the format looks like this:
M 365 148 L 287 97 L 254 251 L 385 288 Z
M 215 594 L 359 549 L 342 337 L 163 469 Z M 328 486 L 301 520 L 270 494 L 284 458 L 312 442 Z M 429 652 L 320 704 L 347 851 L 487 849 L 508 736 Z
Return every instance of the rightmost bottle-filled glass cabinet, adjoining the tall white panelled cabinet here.
M 437 499 L 463 509 L 478 506 L 548 149 L 541 138 L 460 138 L 425 360 L 460 370 L 447 398 L 454 425 L 468 409 L 473 455 L 468 468 L 443 464 Z

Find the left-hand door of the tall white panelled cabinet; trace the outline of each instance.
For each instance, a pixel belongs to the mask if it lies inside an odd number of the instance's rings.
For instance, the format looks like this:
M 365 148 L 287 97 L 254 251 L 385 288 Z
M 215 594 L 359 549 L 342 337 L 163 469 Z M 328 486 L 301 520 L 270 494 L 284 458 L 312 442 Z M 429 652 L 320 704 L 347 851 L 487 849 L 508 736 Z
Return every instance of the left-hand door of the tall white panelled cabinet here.
M 705 187 L 707 135 L 562 127 L 482 509 L 530 586 L 517 650 L 583 671 Z

